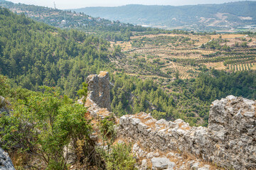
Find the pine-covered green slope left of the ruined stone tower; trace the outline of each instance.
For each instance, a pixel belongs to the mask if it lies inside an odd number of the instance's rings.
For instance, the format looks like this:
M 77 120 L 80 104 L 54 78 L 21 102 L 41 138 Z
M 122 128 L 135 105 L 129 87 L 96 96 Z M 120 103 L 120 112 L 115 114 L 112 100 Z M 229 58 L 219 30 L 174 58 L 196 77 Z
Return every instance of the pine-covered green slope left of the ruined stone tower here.
M 89 74 L 107 67 L 110 43 L 0 9 L 0 73 L 23 88 L 57 86 L 70 97 Z M 15 86 L 13 84 L 13 86 Z

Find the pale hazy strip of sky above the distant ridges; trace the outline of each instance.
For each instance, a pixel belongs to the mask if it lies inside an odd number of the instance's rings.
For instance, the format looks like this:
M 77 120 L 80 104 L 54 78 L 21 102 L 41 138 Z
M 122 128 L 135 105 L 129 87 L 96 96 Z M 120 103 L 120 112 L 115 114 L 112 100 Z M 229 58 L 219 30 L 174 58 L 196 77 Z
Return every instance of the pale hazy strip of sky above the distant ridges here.
M 122 6 L 126 4 L 145 4 L 145 5 L 193 5 L 193 4 L 221 4 L 239 0 L 9 0 L 14 3 L 33 4 L 38 6 L 64 8 L 82 8 L 87 6 Z M 252 0 L 253 1 L 253 0 Z M 254 0 L 255 1 L 255 0 Z

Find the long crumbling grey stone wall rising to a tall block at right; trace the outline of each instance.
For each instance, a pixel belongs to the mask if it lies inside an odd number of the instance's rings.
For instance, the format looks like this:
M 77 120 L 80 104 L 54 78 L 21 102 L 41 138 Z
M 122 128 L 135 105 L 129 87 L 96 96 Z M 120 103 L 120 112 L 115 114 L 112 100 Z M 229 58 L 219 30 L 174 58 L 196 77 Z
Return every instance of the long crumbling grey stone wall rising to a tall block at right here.
M 150 114 L 124 115 L 119 137 L 162 152 L 188 152 L 227 169 L 255 169 L 255 101 L 228 96 L 210 106 L 209 127 L 190 127 L 183 120 L 156 121 Z

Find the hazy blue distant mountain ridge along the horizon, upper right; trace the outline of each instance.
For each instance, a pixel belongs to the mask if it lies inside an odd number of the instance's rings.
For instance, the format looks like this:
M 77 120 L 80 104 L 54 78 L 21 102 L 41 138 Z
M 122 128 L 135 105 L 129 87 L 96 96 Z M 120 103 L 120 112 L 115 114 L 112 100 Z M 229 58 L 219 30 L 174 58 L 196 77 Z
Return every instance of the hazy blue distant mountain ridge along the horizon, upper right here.
M 124 23 L 188 30 L 230 30 L 256 24 L 256 1 L 191 6 L 86 7 L 72 10 Z

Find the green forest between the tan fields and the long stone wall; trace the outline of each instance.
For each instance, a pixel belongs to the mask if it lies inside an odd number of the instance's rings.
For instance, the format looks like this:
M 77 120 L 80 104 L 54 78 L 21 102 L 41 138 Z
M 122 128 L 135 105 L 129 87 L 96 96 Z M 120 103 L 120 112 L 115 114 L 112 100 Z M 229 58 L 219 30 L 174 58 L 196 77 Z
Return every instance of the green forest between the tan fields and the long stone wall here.
M 208 125 L 210 103 L 230 94 L 256 98 L 255 72 L 227 73 L 215 69 L 196 79 L 176 79 L 167 93 L 152 79 L 119 74 L 114 77 L 112 108 L 117 115 L 152 113 L 155 118 L 182 118 L 191 125 Z

